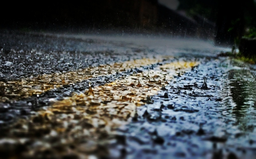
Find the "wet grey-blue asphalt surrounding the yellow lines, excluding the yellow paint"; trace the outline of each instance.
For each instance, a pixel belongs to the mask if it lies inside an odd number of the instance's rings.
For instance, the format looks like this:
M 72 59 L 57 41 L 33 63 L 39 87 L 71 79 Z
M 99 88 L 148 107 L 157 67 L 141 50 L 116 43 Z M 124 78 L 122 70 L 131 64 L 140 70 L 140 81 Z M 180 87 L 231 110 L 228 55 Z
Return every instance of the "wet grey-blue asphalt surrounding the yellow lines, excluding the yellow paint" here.
M 27 152 L 31 145 L 32 147 L 36 145 L 31 139 L 37 140 L 40 137 L 19 136 L 15 133 L 10 135 L 10 129 L 16 128 L 13 124 L 19 119 L 29 120 L 36 112 L 46 111 L 52 106 L 53 99 L 63 101 L 67 97 L 72 97 L 73 93 L 84 92 L 89 88 L 89 83 L 93 88 L 97 88 L 122 78 L 131 77 L 134 80 L 137 74 L 141 72 L 147 74 L 148 70 L 152 75 L 158 71 L 164 75 L 162 66 L 184 61 L 199 62 L 199 64 L 187 70 L 174 66 L 175 74 L 168 75 L 166 90 L 159 89 L 150 99 L 142 100 L 143 104 L 134 110 L 133 115 L 127 117 L 125 124 L 108 132 L 114 134 L 114 138 L 108 139 L 105 144 L 99 144 L 105 141 L 105 138 L 101 140 L 99 137 L 94 141 L 104 148 L 79 152 L 77 156 L 73 152 L 73 157 L 82 158 L 79 154 L 91 158 L 255 158 L 256 156 L 254 66 L 227 57 L 217 57 L 220 51 L 228 51 L 227 48 L 216 48 L 210 41 L 153 35 L 1 33 L 0 37 L 2 47 L 0 151 L 5 152 L 6 157 L 15 157 L 11 156 L 13 152 L 20 155 L 17 151 L 20 145 L 28 147 L 23 150 L 24 152 Z M 32 89 L 41 85 L 33 84 L 38 80 L 36 78 L 39 75 L 66 76 L 72 71 L 79 75 L 83 69 L 99 66 L 102 66 L 102 72 L 104 69 L 108 72 L 107 66 L 112 66 L 113 63 L 125 61 L 133 63 L 136 59 L 146 61 L 150 58 L 159 58 L 159 62 L 129 67 L 114 74 L 102 73 L 104 74 L 102 76 L 96 76 L 96 73 L 92 74 L 90 71 L 88 75 L 91 76 L 90 78 L 81 76 L 82 80 L 67 80 L 66 85 L 56 84 L 61 83 L 61 79 L 55 78 L 52 79 L 52 84 L 49 82 L 49 89 L 43 93 L 19 95 L 22 94 L 22 90 L 18 89 L 19 85 L 14 87 L 16 83 L 10 82 L 19 81 L 22 87 L 24 87 L 22 82 L 26 82 L 26 85 L 32 83 L 30 86 Z M 98 69 L 94 72 L 100 71 Z M 178 72 L 181 76 L 176 74 Z M 86 74 L 86 70 L 83 74 Z M 66 80 L 66 77 L 64 78 Z M 162 80 L 163 77 L 159 79 Z M 35 89 L 43 90 L 42 87 Z M 46 132 L 46 134 L 52 133 Z M 32 144 L 30 146 L 22 144 L 21 139 L 30 139 Z M 89 140 L 87 143 L 90 143 Z M 86 145 L 85 149 L 87 147 L 90 146 Z M 75 147 L 75 149 L 79 148 Z M 98 149 L 106 149 L 106 151 L 101 152 Z M 36 157 L 44 158 L 46 157 L 44 155 L 47 155 L 44 153 Z M 35 157 L 34 153 L 32 156 L 29 153 L 21 154 L 23 158 Z M 48 156 L 64 158 L 68 157 L 68 154 L 53 152 Z

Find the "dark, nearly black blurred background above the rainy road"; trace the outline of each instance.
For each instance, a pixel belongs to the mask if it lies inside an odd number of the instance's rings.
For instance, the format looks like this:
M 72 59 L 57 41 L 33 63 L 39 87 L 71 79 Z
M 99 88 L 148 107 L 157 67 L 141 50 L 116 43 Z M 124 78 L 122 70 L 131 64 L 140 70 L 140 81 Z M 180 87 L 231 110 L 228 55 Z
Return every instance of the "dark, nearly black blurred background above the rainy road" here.
M 160 34 L 233 46 L 256 23 L 255 0 L 87 0 L 8 2 L 2 30 Z

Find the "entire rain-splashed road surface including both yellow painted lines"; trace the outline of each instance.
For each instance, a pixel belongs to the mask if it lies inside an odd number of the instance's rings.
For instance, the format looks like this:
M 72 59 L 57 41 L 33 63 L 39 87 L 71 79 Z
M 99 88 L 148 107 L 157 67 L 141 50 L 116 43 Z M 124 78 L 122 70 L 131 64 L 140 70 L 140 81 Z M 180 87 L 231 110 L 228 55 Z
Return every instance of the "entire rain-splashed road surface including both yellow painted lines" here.
M 223 48 L 154 36 L 0 36 L 2 158 L 256 156 L 254 66 L 217 58 Z

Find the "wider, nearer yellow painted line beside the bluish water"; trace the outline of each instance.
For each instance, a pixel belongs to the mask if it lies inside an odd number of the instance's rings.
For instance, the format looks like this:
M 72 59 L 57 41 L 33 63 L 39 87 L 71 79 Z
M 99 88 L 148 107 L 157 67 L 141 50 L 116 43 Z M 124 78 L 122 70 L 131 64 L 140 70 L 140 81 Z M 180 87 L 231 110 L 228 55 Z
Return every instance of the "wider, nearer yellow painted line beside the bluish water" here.
M 195 65 L 198 63 L 172 62 L 150 70 L 150 76 L 164 84 L 166 81 L 163 81 L 163 76 L 170 82 L 172 76 L 177 75 L 175 69 L 182 75 L 182 72 L 191 69 L 189 66 Z M 131 87 L 131 83 L 135 86 Z M 142 72 L 93 88 L 94 95 L 74 93 L 72 97 L 55 101 L 51 106 L 36 112 L 28 120 L 19 119 L 6 131 L 6 137 L 39 136 L 35 141 L 47 145 L 43 148 L 42 144 L 35 145 L 30 152 L 23 153 L 24 155 L 34 156 L 40 151 L 54 149 L 53 145 L 59 143 L 64 149 L 59 153 L 65 154 L 68 150 L 86 157 L 89 153 L 102 151 L 102 147 L 98 145 L 109 142 L 115 128 L 129 122 L 136 106 L 145 104 L 142 100 L 148 95 L 157 94 L 161 84 L 150 83 L 147 72 Z M 52 140 L 56 136 L 60 141 Z M 86 142 L 82 142 L 84 140 Z M 90 144 L 86 145 L 88 142 Z M 76 148 L 70 149 L 69 145 L 76 145 Z

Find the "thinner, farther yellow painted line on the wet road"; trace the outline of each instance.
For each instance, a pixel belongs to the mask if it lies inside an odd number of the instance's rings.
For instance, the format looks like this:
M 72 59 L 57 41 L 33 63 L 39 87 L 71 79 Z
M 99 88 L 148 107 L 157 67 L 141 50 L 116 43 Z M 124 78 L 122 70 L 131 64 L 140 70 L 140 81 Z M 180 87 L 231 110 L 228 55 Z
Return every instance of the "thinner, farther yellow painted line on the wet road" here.
M 115 71 L 124 71 L 139 66 L 147 66 L 162 60 L 163 57 L 155 59 L 143 58 L 132 61 L 125 61 L 123 63 L 114 63 L 113 65 L 100 65 L 98 67 L 89 67 L 70 71 L 65 74 L 54 73 L 51 75 L 41 75 L 35 78 L 26 78 L 15 81 L 0 81 L 0 102 L 20 100 L 32 96 L 32 94 L 41 94 L 51 89 L 63 87 L 63 85 L 81 82 L 86 79 L 95 78 L 98 76 L 115 74 Z M 111 72 L 109 73 L 109 66 Z M 92 74 L 92 72 L 94 72 Z

